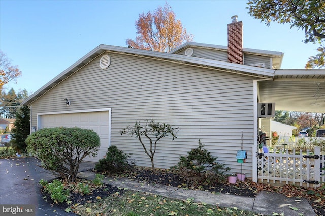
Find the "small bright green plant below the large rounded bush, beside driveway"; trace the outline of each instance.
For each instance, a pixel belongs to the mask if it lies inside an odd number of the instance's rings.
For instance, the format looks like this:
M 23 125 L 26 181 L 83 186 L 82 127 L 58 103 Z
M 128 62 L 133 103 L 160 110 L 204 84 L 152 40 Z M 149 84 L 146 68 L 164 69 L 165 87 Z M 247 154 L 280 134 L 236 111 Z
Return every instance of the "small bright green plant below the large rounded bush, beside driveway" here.
M 62 203 L 68 200 L 70 191 L 64 188 L 62 181 L 54 179 L 51 183 L 47 183 L 44 179 L 41 179 L 40 184 L 44 187 L 44 190 L 50 194 L 54 202 Z

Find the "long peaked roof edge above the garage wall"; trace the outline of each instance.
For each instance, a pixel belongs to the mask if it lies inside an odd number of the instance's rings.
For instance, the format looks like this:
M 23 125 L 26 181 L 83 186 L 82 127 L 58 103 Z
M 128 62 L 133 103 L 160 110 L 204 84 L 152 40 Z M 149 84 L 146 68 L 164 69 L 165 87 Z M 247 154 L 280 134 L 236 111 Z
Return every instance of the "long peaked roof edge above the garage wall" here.
M 172 63 L 184 64 L 184 65 L 191 65 L 194 67 L 202 67 L 202 68 L 209 68 L 212 70 L 219 70 L 225 71 L 230 73 L 237 73 L 243 74 L 247 76 L 258 77 L 261 79 L 272 79 L 274 77 L 275 70 L 268 69 L 268 68 L 260 68 L 248 65 L 240 65 L 235 63 L 229 63 L 226 61 L 219 61 L 219 60 L 211 60 L 206 58 L 198 58 L 198 57 L 191 57 L 185 55 L 178 55 L 173 53 L 165 53 L 165 52 L 156 52 L 156 51 L 149 51 L 149 50 L 142 50 L 142 49 L 134 49 L 134 48 L 127 48 L 127 47 L 119 47 L 119 46 L 110 46 L 101 44 L 98 47 L 91 50 L 85 56 L 80 58 L 76 63 L 72 66 L 61 72 L 59 75 L 54 77 L 48 83 L 46 83 L 43 87 L 37 90 L 34 94 L 29 96 L 26 100 L 22 102 L 22 105 L 29 105 L 30 103 L 37 100 L 39 97 L 44 95 L 47 91 L 51 88 L 62 82 L 64 79 L 67 79 L 70 75 L 77 72 L 84 66 L 86 66 L 90 61 L 94 58 L 102 55 L 105 52 L 113 52 L 113 53 L 120 53 L 126 55 L 133 55 L 163 61 L 169 61 Z

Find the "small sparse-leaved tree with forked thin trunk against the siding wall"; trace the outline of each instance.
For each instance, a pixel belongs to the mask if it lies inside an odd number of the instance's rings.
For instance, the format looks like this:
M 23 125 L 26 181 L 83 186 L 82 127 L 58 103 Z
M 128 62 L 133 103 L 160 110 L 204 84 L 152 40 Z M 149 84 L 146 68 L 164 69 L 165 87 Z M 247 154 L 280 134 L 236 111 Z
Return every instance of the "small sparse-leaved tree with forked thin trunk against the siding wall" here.
M 120 133 L 121 135 L 135 135 L 135 137 L 140 141 L 144 152 L 151 160 L 152 170 L 155 171 L 153 159 L 154 154 L 156 153 L 157 142 L 164 137 L 172 137 L 172 140 L 174 140 L 177 138 L 176 132 L 178 130 L 179 128 L 172 128 L 169 124 L 147 119 L 145 125 L 142 125 L 140 121 L 136 121 L 134 126 L 127 126 L 126 128 L 121 129 Z M 145 139 L 147 139 L 147 142 L 145 142 Z

